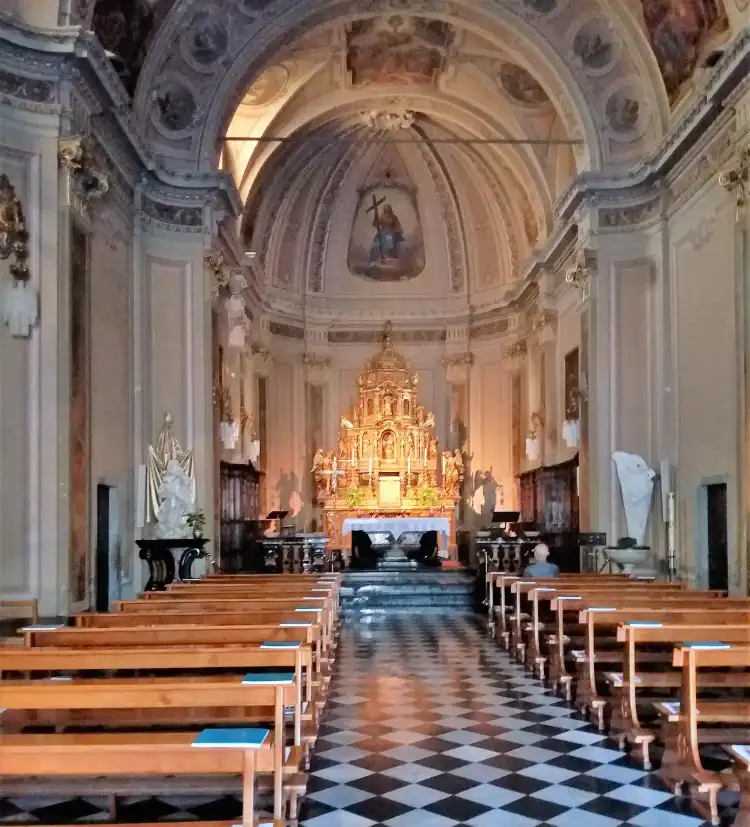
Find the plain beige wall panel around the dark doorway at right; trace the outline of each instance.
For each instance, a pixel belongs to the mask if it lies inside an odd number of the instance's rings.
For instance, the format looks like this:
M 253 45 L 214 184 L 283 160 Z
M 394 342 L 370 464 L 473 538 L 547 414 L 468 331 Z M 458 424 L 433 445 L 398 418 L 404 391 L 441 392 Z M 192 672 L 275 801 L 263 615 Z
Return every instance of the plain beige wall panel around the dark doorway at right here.
M 747 222 L 747 217 L 745 217 Z M 740 223 L 734 199 L 713 179 L 670 223 L 669 270 L 674 302 L 677 393 L 679 551 L 696 582 L 705 582 L 705 502 L 701 487 L 726 482 L 729 575 L 746 583 L 739 449 L 744 397 L 742 301 L 747 274 L 738 258 Z M 745 263 L 746 266 L 746 263 Z

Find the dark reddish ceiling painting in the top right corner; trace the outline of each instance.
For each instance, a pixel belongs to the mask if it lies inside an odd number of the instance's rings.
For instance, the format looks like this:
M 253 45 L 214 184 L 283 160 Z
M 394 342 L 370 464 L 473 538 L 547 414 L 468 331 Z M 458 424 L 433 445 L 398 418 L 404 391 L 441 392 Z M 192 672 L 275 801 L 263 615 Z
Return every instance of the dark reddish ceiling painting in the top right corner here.
M 641 0 L 651 48 L 669 99 L 690 80 L 701 55 L 728 21 L 722 0 Z

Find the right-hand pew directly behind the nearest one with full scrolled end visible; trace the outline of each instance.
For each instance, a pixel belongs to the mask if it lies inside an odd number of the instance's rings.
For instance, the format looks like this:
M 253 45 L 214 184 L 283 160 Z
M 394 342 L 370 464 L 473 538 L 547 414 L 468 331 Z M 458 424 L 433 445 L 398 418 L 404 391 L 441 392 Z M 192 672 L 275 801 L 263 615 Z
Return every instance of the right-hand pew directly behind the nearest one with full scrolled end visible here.
M 744 626 L 750 623 L 750 604 L 732 605 L 729 601 L 709 599 L 704 603 L 691 601 L 688 603 L 674 602 L 667 607 L 665 602 L 651 602 L 642 606 L 633 606 L 630 603 L 612 601 L 614 606 L 589 606 L 581 610 L 579 622 L 586 626 L 586 649 L 580 663 L 579 681 L 576 690 L 576 706 L 581 710 L 588 710 L 596 718 L 600 731 L 605 730 L 605 708 L 607 699 L 598 693 L 597 677 L 604 682 L 604 673 L 610 671 L 602 667 L 604 664 L 615 665 L 623 662 L 623 649 L 614 653 L 607 653 L 600 648 L 603 635 L 615 635 L 616 629 L 625 620 L 657 621 L 683 625 L 693 622 L 696 614 L 708 625 L 717 623 Z M 726 605 L 725 604 L 729 604 Z M 597 640 L 597 635 L 599 641 Z

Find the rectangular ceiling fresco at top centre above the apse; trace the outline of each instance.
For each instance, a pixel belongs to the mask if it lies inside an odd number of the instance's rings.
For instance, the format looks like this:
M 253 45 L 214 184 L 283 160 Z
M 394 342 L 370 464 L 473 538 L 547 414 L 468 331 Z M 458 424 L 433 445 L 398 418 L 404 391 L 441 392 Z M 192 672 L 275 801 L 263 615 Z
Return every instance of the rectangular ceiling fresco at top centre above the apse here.
M 356 20 L 347 35 L 346 65 L 352 86 L 434 83 L 455 32 L 420 17 Z

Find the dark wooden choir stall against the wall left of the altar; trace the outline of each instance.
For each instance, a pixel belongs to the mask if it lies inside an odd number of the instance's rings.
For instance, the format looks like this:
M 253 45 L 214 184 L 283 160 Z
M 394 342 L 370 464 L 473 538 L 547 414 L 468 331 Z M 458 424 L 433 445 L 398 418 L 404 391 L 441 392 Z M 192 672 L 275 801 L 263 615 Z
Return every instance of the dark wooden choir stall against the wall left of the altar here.
M 248 571 L 256 564 L 262 570 L 261 473 L 251 462 L 222 462 L 219 480 L 221 570 L 227 573 Z

